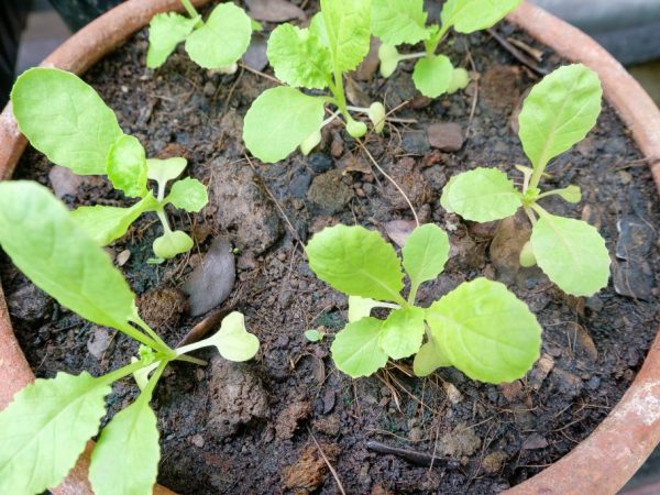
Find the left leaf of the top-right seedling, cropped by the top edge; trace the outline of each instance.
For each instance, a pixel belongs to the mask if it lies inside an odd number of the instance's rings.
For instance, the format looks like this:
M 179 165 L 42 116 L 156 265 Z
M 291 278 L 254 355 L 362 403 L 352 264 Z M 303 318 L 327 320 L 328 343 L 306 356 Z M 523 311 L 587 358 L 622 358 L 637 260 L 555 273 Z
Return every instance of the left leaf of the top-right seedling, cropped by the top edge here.
M 389 45 L 414 45 L 429 36 L 424 0 L 372 0 L 372 33 Z

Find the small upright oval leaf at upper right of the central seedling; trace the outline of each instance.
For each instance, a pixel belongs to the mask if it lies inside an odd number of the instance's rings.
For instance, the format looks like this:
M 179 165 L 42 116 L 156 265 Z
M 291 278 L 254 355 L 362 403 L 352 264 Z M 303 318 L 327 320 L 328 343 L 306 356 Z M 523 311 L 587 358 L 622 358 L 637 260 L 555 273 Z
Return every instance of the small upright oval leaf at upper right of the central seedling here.
M 435 279 L 449 260 L 449 237 L 433 223 L 418 227 L 402 249 L 404 270 L 414 287 Z

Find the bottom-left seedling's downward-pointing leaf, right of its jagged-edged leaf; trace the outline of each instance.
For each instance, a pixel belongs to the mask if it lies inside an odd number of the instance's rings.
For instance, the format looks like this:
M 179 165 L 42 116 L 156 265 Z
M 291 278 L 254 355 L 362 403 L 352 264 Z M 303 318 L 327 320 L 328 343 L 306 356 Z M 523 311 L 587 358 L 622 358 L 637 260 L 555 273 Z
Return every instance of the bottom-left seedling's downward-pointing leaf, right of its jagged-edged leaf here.
M 148 402 L 139 398 L 103 428 L 91 452 L 95 495 L 151 495 L 158 473 L 158 429 Z

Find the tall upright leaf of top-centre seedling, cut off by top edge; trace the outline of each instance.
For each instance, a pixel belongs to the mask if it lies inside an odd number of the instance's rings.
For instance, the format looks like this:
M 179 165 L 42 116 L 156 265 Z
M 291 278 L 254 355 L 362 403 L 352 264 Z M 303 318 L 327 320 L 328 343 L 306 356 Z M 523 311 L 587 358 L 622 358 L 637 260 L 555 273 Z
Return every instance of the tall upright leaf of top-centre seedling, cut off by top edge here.
M 334 70 L 353 70 L 369 53 L 371 0 L 321 0 Z

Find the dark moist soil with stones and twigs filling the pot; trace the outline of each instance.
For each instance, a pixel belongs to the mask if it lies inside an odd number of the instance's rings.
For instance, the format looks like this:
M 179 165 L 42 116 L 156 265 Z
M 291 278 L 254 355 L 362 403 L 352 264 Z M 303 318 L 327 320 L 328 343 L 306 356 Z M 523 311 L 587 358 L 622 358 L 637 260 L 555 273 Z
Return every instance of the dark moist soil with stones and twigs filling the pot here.
M 512 25 L 503 23 L 497 31 L 539 50 L 543 69 L 562 63 Z M 388 124 L 382 136 L 370 135 L 366 146 L 407 193 L 420 220 L 450 233 L 451 258 L 444 273 L 420 290 L 421 304 L 463 280 L 487 276 L 505 282 L 537 315 L 543 327 L 541 359 L 513 384 L 475 383 L 454 369 L 416 378 L 406 360 L 358 381 L 334 369 L 331 334 L 346 321 L 346 298 L 316 279 L 301 243 L 338 222 L 386 237 L 388 229 L 405 230 L 413 218 L 339 122 L 326 128 L 320 147 L 308 157 L 295 153 L 275 165 L 251 165 L 242 120 L 254 98 L 273 86 L 267 78 L 245 69 L 231 76 L 209 73 L 180 47 L 161 69 L 148 70 L 144 30 L 85 76 L 151 156 L 183 154 L 187 174 L 209 187 L 210 202 L 201 213 L 170 211 L 174 224 L 196 240 L 189 255 L 163 265 L 145 263 L 161 233 L 151 215 L 109 248 L 140 295 L 142 315 L 176 344 L 205 317 L 189 316 L 180 288 L 212 240 L 226 237 L 237 252 L 237 279 L 216 309 L 243 311 L 261 340 L 257 359 L 249 363 L 228 363 L 202 351 L 198 356 L 209 360 L 207 367 L 169 366 L 153 400 L 162 433 L 160 483 L 182 494 L 336 493 L 329 463 L 346 493 L 497 493 L 573 449 L 635 378 L 660 323 L 652 227 L 660 224 L 660 210 L 628 132 L 605 105 L 587 139 L 548 169 L 547 187 L 578 184 L 583 201 L 544 206 L 597 226 L 613 257 L 607 288 L 587 299 L 568 297 L 539 270 L 518 267 L 524 221 L 470 224 L 440 207 L 442 186 L 464 169 L 494 166 L 520 180 L 514 164 L 527 162 L 516 112 L 539 80 L 487 33 L 451 36 L 443 46 L 454 64 L 469 69 L 474 64 L 476 80 L 465 91 L 421 98 L 410 80 L 411 66 L 405 65 L 389 79 L 370 78 L 365 70 L 366 80 L 355 81 L 352 98 L 361 105 L 384 96 L 388 109 L 408 101 L 395 116 L 403 122 Z M 430 124 L 449 122 L 465 136 L 453 153 L 447 150 L 455 142 L 432 139 L 442 151 L 430 146 L 427 135 Z M 64 200 L 72 207 L 127 205 L 105 177 L 74 180 L 52 173 L 50 178 L 51 168 L 29 150 L 16 177 L 51 186 L 57 180 L 68 188 Z M 0 273 L 15 332 L 37 376 L 52 377 L 58 370 L 100 374 L 136 353 L 122 334 L 59 307 L 4 255 Z M 306 341 L 302 332 L 318 327 L 329 337 Z M 131 380 L 116 384 L 110 415 L 135 392 Z

